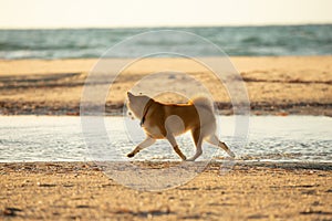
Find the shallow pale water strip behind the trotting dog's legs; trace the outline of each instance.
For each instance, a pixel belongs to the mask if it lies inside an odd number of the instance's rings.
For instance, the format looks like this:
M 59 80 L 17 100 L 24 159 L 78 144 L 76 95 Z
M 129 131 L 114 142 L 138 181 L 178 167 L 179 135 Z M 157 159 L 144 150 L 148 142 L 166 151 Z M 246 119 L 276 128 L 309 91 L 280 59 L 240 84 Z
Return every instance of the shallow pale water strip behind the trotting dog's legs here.
M 0 161 L 128 160 L 128 154 L 144 134 L 138 120 L 124 124 L 122 117 L 105 117 L 107 137 L 90 148 L 82 134 L 81 118 L 66 116 L 1 116 Z M 220 138 L 238 160 L 332 162 L 332 118 L 324 116 L 250 116 L 248 139 L 234 138 L 235 117 L 221 116 Z M 134 133 L 133 133 L 134 131 Z M 86 136 L 86 133 L 85 133 Z M 104 140 L 105 139 L 105 140 Z M 188 134 L 177 138 L 187 157 L 194 155 Z M 243 145 L 245 144 L 245 145 Z M 102 147 L 103 146 L 103 147 Z M 225 159 L 224 150 L 204 146 L 201 159 Z M 179 160 L 167 141 L 158 140 L 134 160 Z

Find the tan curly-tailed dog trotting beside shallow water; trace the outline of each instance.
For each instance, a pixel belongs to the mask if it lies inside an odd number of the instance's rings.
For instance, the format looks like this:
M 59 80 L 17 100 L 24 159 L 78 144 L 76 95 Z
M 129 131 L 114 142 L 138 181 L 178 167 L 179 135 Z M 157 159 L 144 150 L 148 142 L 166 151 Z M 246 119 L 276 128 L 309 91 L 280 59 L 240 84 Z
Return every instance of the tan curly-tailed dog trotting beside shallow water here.
M 188 161 L 196 160 L 201 154 L 203 141 L 222 148 L 230 157 L 235 154 L 216 136 L 216 117 L 212 103 L 204 96 L 193 98 L 187 104 L 163 104 L 145 95 L 127 92 L 129 115 L 141 119 L 146 138 L 127 155 L 132 158 L 142 149 L 152 146 L 156 139 L 167 139 L 175 152 Z M 133 113 L 133 114 L 132 114 Z M 175 137 L 190 130 L 196 154 L 187 159 L 179 149 Z

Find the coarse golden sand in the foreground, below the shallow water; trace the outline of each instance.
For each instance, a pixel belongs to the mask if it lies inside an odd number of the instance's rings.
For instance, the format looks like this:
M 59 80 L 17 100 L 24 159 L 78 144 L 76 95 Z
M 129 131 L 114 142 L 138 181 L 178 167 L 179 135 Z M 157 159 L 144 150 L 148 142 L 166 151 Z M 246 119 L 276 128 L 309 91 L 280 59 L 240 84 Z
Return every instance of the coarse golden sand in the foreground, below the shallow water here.
M 0 219 L 331 220 L 331 169 L 238 162 L 220 173 L 215 162 L 187 185 L 148 192 L 116 183 L 90 162 L 0 164 Z

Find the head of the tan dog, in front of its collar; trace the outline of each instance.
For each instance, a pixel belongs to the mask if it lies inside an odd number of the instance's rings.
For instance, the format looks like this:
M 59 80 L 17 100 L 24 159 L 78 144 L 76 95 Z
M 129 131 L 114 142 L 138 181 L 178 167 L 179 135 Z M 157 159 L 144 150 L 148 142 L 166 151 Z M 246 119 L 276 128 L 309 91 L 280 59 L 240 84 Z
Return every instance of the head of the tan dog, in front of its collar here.
M 135 96 L 131 92 L 127 92 L 127 97 L 128 97 L 127 106 L 129 110 L 134 114 L 136 118 L 141 119 L 143 117 L 143 112 L 145 106 L 147 105 L 148 101 L 152 98 L 145 95 Z

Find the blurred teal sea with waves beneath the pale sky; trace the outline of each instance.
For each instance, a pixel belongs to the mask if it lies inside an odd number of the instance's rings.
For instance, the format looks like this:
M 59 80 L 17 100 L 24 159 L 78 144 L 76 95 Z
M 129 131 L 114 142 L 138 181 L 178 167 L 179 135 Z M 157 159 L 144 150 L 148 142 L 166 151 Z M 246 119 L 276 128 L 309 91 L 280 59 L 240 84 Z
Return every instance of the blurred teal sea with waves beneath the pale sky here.
M 0 30 L 0 59 L 101 57 L 114 45 L 144 32 L 173 30 L 201 36 L 231 56 L 328 55 L 332 53 L 332 24 L 135 29 Z M 215 55 L 205 42 L 172 32 L 142 38 L 135 50 L 115 57 L 133 57 L 142 51 L 195 49 L 197 56 Z

